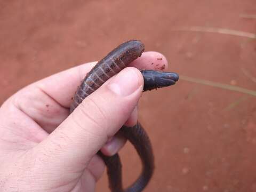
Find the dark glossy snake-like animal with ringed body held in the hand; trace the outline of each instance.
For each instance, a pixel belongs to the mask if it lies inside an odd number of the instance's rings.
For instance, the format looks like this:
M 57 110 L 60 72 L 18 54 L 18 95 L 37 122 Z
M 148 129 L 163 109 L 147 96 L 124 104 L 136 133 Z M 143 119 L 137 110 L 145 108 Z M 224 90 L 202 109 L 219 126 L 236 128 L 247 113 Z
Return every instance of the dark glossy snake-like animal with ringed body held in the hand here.
M 129 41 L 119 45 L 105 58 L 99 61 L 86 75 L 81 86 L 78 87 L 74 101 L 70 107 L 70 113 L 72 113 L 84 98 L 97 90 L 110 77 L 119 73 L 119 71 L 125 68 L 129 63 L 140 57 L 143 51 L 144 45 L 140 41 Z M 141 71 L 141 73 L 145 80 L 144 91 L 173 85 L 179 79 L 178 74 L 175 73 L 153 70 L 144 70 Z M 142 172 L 133 185 L 127 189 L 123 189 L 122 164 L 118 154 L 109 157 L 99 151 L 98 155 L 101 156 L 107 166 L 109 188 L 111 191 L 115 192 L 142 191 L 147 186 L 154 171 L 154 156 L 149 137 L 139 123 L 133 127 L 122 126 L 119 133 L 129 140 L 137 150 L 141 158 Z

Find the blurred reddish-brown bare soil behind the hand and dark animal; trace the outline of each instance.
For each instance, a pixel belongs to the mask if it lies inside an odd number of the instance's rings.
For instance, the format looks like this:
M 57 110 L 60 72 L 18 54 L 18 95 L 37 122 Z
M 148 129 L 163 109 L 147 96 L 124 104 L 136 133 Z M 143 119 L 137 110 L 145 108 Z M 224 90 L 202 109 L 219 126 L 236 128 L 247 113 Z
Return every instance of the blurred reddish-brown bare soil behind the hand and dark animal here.
M 21 87 L 140 39 L 177 85 L 144 93 L 156 169 L 145 191 L 256 191 L 256 2 L 0 1 L 0 105 Z M 124 182 L 140 172 L 130 144 Z M 108 191 L 106 174 L 97 191 Z

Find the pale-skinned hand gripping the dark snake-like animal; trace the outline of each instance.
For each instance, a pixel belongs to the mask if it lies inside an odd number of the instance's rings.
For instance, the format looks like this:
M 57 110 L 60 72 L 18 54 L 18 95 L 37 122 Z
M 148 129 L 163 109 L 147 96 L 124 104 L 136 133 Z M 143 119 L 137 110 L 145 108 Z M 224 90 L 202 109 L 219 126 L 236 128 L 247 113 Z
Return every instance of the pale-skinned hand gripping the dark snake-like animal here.
M 167 61 L 143 53 L 68 116 L 77 86 L 94 65 L 42 79 L 1 106 L 0 191 L 94 191 L 105 168 L 97 151 L 117 153 L 125 140 L 113 135 L 137 122 L 143 78 L 136 68 L 166 69 Z

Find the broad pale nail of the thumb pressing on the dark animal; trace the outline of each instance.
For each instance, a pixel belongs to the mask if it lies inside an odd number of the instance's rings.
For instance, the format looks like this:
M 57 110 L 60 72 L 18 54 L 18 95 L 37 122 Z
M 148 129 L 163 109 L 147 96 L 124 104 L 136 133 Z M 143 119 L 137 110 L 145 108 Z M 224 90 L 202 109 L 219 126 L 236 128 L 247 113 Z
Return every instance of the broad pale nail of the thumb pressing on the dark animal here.
M 121 96 L 128 96 L 141 86 L 139 75 L 130 67 L 120 71 L 108 84 L 111 91 Z

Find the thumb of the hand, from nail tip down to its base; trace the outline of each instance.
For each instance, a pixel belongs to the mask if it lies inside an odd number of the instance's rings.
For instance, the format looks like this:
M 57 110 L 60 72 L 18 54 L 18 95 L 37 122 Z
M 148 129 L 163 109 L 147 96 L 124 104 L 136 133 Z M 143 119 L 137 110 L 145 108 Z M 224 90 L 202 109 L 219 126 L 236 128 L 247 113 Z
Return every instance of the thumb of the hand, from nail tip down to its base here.
M 36 151 L 41 151 L 39 156 L 41 162 L 45 162 L 45 169 L 50 171 L 51 167 L 58 167 L 61 172 L 85 169 L 108 138 L 129 118 L 139 101 L 142 85 L 140 71 L 127 67 L 85 98 L 36 147 Z

